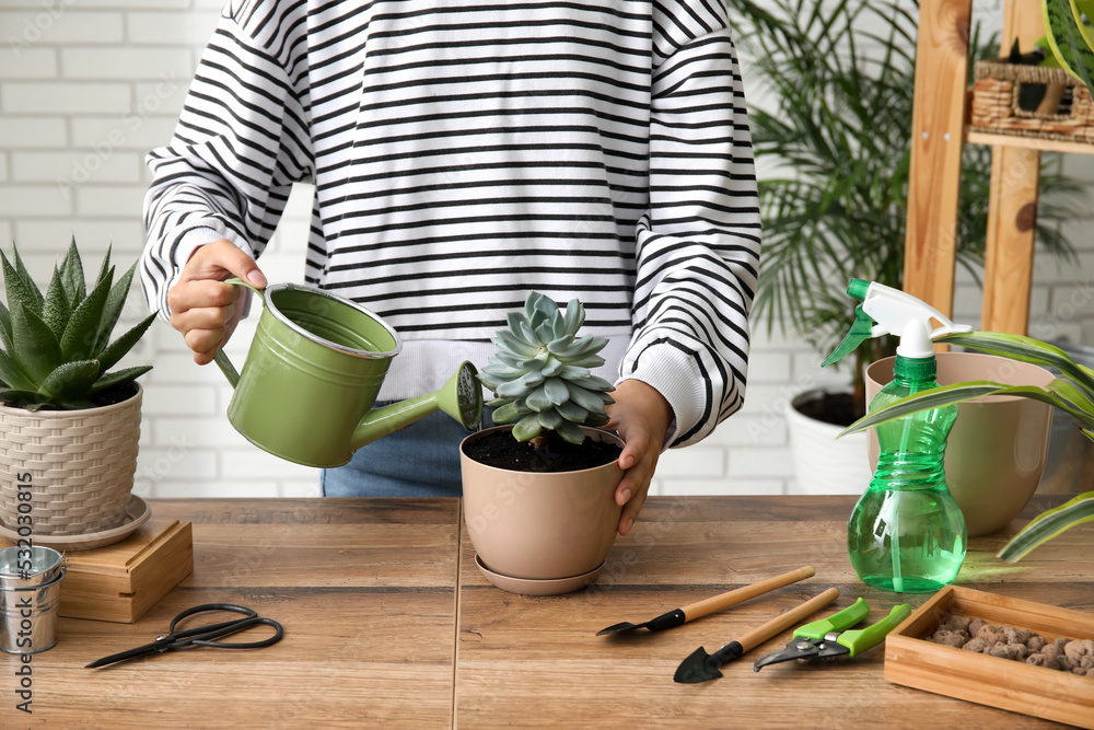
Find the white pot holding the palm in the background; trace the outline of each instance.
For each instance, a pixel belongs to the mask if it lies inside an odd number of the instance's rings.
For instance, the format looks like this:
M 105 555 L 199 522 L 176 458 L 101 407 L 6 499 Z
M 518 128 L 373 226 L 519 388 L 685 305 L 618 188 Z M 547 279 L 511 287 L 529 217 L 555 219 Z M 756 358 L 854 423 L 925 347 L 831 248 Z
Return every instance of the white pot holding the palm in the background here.
M 796 408 L 826 393 L 848 390 L 841 386 L 811 389 L 791 401 L 787 427 L 796 474 L 794 494 L 861 495 L 870 485 L 873 468 L 868 456 L 866 434 L 852 433 L 837 440 L 843 427 L 810 418 Z

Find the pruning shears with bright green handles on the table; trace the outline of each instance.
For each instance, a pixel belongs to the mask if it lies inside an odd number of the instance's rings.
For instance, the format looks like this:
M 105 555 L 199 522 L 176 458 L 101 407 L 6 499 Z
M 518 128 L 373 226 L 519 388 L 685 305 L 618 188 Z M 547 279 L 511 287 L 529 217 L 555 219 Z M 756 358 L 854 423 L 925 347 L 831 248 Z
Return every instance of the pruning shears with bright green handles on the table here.
M 884 641 L 885 636 L 911 614 L 911 606 L 901 603 L 893 606 L 889 615 L 876 624 L 866 628 L 845 630 L 864 619 L 869 613 L 870 605 L 863 599 L 859 599 L 828 618 L 805 624 L 794 631 L 794 638 L 787 644 L 785 649 L 761 657 L 753 664 L 753 669 L 758 672 L 768 664 L 795 659 L 834 661 L 839 657 L 857 657 Z

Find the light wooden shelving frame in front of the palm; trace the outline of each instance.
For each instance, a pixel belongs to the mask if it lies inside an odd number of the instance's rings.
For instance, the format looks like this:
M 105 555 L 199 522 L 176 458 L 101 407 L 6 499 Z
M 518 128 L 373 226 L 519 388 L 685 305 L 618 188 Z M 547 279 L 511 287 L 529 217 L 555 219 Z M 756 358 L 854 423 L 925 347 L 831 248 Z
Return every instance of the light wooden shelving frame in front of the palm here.
M 953 312 L 962 147 L 991 144 L 991 192 L 981 329 L 1025 334 L 1029 322 L 1037 187 L 1043 150 L 1094 146 L 968 134 L 968 36 L 973 0 L 922 0 L 916 91 L 905 290 Z M 1005 0 L 1001 48 L 1028 48 L 1044 35 L 1040 0 Z

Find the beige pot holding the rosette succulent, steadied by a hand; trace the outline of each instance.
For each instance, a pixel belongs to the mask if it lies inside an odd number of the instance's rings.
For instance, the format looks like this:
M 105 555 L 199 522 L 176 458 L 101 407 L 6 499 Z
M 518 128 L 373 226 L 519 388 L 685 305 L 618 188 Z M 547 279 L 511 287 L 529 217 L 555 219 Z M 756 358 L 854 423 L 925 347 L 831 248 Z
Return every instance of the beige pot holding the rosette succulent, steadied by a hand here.
M 538 474 L 496 468 L 467 456 L 466 444 L 511 428 L 478 431 L 461 444 L 467 532 L 489 571 L 524 581 L 560 581 L 563 590 L 558 592 L 574 590 L 580 586 L 565 586 L 562 579 L 597 569 L 615 543 L 622 508 L 614 495 L 622 470 L 613 461 L 580 472 Z M 583 430 L 591 439 L 622 447 L 613 433 Z

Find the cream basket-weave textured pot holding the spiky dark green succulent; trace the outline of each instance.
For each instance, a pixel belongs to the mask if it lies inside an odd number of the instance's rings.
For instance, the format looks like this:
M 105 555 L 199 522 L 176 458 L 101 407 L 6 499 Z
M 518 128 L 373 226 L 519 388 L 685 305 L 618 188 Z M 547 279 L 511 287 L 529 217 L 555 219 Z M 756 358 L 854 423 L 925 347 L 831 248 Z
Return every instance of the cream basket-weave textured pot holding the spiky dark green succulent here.
M 137 384 L 129 399 L 100 408 L 30 412 L 0 406 L 2 526 L 16 531 L 30 518 L 39 536 L 120 526 L 137 471 L 142 395 Z M 28 493 L 30 501 L 20 500 L 21 493 Z

